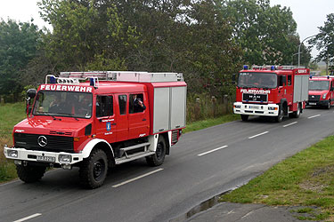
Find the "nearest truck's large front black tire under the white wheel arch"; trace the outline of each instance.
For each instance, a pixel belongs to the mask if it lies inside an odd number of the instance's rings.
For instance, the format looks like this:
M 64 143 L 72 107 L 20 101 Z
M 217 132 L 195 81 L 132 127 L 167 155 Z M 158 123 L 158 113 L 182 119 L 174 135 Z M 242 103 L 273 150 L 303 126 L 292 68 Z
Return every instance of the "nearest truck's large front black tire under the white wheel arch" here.
M 86 188 L 102 186 L 108 173 L 108 158 L 101 149 L 92 151 L 91 155 L 80 165 L 80 182 Z

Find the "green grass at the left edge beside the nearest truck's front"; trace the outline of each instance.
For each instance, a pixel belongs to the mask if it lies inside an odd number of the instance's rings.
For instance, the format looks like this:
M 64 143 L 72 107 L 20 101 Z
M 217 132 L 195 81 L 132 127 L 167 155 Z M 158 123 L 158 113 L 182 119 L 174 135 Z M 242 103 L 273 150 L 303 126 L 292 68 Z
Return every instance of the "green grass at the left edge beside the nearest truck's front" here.
M 12 128 L 25 117 L 23 102 L 0 105 L 0 183 L 17 178 L 14 163 L 4 158 L 4 144 L 12 146 Z

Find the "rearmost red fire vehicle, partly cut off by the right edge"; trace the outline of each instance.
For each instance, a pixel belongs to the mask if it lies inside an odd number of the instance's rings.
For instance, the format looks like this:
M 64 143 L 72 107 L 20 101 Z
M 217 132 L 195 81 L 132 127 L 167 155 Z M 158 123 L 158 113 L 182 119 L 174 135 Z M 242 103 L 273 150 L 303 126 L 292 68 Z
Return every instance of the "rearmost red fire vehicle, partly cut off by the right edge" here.
M 306 105 L 330 109 L 334 104 L 334 76 L 310 76 Z

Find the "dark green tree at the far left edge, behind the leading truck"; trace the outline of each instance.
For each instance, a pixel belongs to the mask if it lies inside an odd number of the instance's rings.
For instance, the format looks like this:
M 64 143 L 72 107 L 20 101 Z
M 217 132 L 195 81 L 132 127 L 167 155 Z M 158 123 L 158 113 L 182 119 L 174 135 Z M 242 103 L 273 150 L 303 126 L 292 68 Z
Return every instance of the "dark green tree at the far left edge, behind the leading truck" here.
M 0 22 L 0 94 L 18 94 L 20 74 L 37 54 L 41 32 L 30 22 Z

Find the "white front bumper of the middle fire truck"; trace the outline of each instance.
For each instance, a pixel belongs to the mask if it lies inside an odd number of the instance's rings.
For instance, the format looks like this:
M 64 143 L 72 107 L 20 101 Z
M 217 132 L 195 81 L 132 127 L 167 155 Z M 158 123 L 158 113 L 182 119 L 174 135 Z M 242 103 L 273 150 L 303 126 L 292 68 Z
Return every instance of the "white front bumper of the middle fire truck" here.
M 277 116 L 279 106 L 276 104 L 248 104 L 242 102 L 233 103 L 234 114 L 240 115 L 265 115 Z

